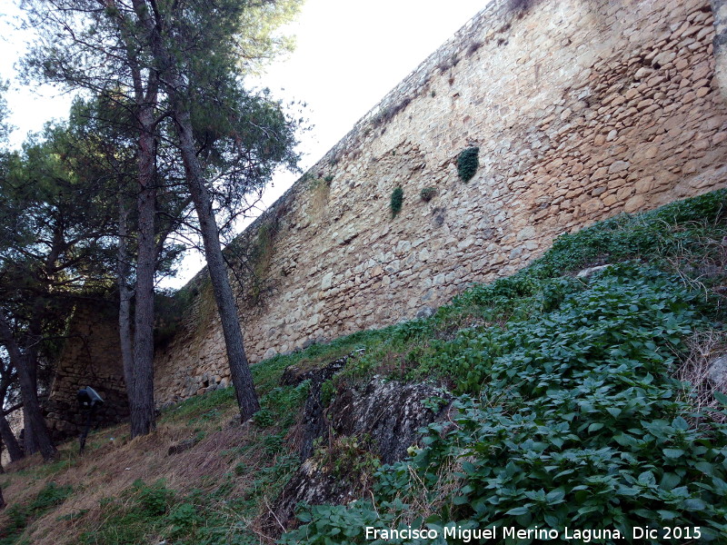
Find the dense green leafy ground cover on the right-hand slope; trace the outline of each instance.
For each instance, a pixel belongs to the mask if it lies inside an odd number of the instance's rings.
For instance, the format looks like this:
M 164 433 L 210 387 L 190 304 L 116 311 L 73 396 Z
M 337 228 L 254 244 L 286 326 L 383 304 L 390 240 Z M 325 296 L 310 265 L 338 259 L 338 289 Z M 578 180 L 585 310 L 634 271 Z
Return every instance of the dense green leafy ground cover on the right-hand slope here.
M 445 529 L 460 531 L 449 543 L 477 529 L 493 543 L 727 542 L 727 413 L 696 408 L 673 378 L 694 332 L 723 330 L 711 288 L 725 280 L 713 271 L 725 195 L 562 237 L 523 272 L 393 328 L 383 344 L 410 343 L 409 376 L 438 377 L 457 394 L 449 421 L 377 471 L 371 499 L 303 507 L 303 525 L 280 542 L 443 543 Z M 561 276 L 599 261 L 615 264 Z M 438 338 L 462 312 L 484 323 Z

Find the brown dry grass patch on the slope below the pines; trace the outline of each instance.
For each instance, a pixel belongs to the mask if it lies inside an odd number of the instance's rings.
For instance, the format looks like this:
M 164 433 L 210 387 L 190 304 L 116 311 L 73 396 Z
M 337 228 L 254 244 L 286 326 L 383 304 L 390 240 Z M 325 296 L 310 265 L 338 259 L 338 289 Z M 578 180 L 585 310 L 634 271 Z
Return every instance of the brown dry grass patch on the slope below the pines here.
M 34 545 L 66 545 L 76 543 L 83 531 L 102 526 L 102 500 L 121 498 L 124 490 L 137 480 L 164 480 L 167 488 L 182 494 L 193 489 L 210 491 L 219 485 L 210 476 L 234 471 L 242 460 L 250 471 L 234 479 L 231 492 L 240 496 L 252 485 L 256 470 L 269 463 L 260 450 L 250 449 L 242 455 L 240 447 L 262 441 L 262 435 L 271 431 L 260 431 L 251 424 L 221 429 L 219 422 L 231 421 L 235 412 L 231 408 L 214 421 L 195 421 L 194 428 L 188 422 L 165 419 L 154 433 L 131 441 L 128 425 L 106 429 L 89 438 L 83 455 L 77 453 L 76 442 L 69 441 L 60 446 L 59 461 L 53 464 L 43 465 L 35 456 L 10 464 L 0 481 L 4 484 L 5 500 L 9 507 L 27 504 L 48 482 L 72 485 L 73 494 L 35 520 L 24 534 Z M 168 455 L 170 446 L 195 434 L 204 434 L 204 439 L 187 451 Z M 6 521 L 6 513 L 7 510 L 0 515 L 0 527 Z

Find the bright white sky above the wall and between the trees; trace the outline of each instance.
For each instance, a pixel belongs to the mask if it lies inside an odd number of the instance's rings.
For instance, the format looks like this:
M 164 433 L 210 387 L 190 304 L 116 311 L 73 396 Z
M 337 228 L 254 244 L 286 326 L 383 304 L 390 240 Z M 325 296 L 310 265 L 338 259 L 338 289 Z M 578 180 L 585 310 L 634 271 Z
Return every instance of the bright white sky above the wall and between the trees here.
M 307 0 L 285 34 L 296 36 L 287 59 L 272 64 L 261 79 L 274 96 L 308 105 L 314 129 L 301 135 L 301 166 L 306 169 L 336 144 L 383 95 L 413 71 L 490 0 Z M 14 64 L 31 35 L 15 30 L 19 10 L 0 0 L 0 77 L 11 80 L 6 95 L 10 123 L 17 127 L 11 144 L 46 121 L 64 118 L 70 96 L 48 86 L 21 87 Z M 283 90 L 284 89 L 284 90 Z M 281 173 L 265 194 L 269 205 L 297 178 Z M 173 282 L 178 287 L 201 268 L 190 256 Z

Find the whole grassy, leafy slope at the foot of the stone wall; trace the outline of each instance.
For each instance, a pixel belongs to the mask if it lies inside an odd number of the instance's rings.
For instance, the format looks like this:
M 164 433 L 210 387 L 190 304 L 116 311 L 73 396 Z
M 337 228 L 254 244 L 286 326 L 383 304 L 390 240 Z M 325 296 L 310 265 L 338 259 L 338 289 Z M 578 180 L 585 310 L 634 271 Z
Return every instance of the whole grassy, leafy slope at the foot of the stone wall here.
M 717 406 L 701 379 L 725 349 L 724 237 L 725 191 L 619 216 L 561 237 L 432 318 L 256 365 L 264 410 L 243 429 L 228 425 L 232 391 L 216 391 L 165 412 L 150 437 L 128 441 L 121 426 L 95 433 L 83 457 L 71 444 L 55 464 L 16 464 L 0 478 L 10 504 L 0 545 L 258 542 L 257 520 L 296 467 L 306 385 L 278 387 L 280 374 L 357 348 L 366 351 L 324 385 L 326 397 L 383 373 L 447 385 L 458 411 L 412 459 L 375 472 L 375 507 L 303 510 L 310 523 L 287 542 L 366 542 L 364 523 L 663 522 L 716 535 L 727 523 L 727 431 L 694 406 Z M 570 274 L 614 262 L 628 263 L 588 280 Z M 698 379 L 699 399 L 674 375 Z M 191 438 L 192 449 L 167 455 Z

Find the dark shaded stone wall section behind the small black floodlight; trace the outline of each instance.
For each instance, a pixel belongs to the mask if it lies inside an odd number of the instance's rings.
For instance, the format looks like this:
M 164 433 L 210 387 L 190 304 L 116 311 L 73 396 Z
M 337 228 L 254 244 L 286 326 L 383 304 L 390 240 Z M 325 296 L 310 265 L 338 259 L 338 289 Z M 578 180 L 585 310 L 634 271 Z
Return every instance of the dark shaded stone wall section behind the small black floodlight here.
M 79 303 L 57 365 L 51 394 L 44 403 L 46 421 L 55 438 L 77 434 L 86 415 L 76 393 L 91 386 L 104 399 L 94 423 L 124 421 L 129 415 L 118 332 L 118 303 Z

